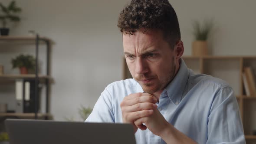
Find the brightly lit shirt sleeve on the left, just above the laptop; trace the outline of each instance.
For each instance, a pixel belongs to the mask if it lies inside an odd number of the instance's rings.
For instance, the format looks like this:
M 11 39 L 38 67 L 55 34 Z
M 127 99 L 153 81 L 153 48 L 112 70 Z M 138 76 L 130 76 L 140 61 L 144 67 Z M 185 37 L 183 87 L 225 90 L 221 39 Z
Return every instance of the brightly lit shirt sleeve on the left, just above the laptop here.
M 92 113 L 85 120 L 85 122 L 108 122 L 113 123 L 114 114 L 112 108 L 112 97 L 109 94 L 107 88 L 102 92 L 98 101 L 96 102 Z

